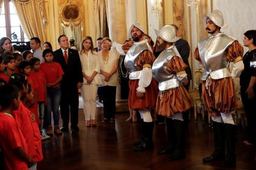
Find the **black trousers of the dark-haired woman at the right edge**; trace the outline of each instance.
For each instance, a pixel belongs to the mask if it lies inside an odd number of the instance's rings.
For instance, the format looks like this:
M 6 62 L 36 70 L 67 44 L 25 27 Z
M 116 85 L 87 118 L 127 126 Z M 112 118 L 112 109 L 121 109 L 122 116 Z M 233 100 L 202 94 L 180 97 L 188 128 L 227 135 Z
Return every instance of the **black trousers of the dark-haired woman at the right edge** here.
M 255 104 L 256 104 L 256 88 L 254 88 L 254 97 L 249 99 L 246 93 L 247 87 L 241 86 L 241 98 L 244 105 L 244 111 L 247 116 L 247 141 L 251 144 L 256 144 L 256 114 L 255 114 Z

